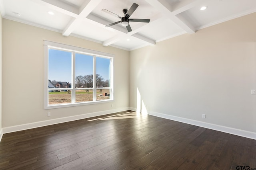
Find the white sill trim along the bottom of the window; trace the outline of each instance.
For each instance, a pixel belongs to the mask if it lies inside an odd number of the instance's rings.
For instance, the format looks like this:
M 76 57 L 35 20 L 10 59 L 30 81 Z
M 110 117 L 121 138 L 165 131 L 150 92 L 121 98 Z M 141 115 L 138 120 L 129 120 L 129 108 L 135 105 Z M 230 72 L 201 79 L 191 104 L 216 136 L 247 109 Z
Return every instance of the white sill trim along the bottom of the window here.
M 84 106 L 84 105 L 92 105 L 92 104 L 102 104 L 102 103 L 108 103 L 113 102 L 112 99 L 108 100 L 100 100 L 100 101 L 92 101 L 92 102 L 77 102 L 77 103 L 67 103 L 67 104 L 55 104 L 55 105 L 49 105 L 45 106 L 44 109 L 56 109 L 56 108 L 63 108 L 63 107 L 74 107 L 74 106 Z

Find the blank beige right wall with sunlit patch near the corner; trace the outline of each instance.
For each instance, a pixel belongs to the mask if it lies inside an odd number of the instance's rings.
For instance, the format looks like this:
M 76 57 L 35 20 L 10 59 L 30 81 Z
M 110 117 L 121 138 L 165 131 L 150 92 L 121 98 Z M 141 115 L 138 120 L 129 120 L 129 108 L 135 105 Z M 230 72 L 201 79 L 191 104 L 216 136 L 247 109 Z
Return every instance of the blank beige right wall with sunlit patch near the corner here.
M 130 107 L 137 89 L 149 113 L 256 132 L 256 13 L 131 51 Z

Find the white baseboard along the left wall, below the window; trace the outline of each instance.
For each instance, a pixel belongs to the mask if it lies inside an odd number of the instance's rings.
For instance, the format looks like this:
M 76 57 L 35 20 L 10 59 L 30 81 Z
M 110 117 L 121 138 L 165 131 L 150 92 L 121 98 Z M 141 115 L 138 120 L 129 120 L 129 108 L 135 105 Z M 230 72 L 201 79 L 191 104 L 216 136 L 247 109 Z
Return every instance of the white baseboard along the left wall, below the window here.
M 22 131 L 22 130 L 32 129 L 32 128 L 36 128 L 36 127 L 54 125 L 54 124 L 58 124 L 58 123 L 68 122 L 68 121 L 75 121 L 75 120 L 79 120 L 79 119 L 86 119 L 86 118 L 95 117 L 95 116 L 107 115 L 107 114 L 116 113 L 119 111 L 126 111 L 126 110 L 129 110 L 129 107 L 105 110 L 105 111 L 98 111 L 98 112 L 86 113 L 86 114 L 82 114 L 82 115 L 74 115 L 74 116 L 69 116 L 69 117 L 61 117 L 58 119 L 38 121 L 38 122 L 10 126 L 10 127 L 4 127 L 1 130 L 1 134 Z M 2 136 L 0 136 L 0 137 L 2 137 Z

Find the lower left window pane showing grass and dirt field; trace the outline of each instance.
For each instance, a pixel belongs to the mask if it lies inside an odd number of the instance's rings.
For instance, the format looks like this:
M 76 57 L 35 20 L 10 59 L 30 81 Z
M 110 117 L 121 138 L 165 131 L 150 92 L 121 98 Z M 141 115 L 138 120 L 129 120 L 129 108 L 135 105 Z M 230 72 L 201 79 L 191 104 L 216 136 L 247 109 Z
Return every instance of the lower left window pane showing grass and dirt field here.
M 71 90 L 49 90 L 49 105 L 71 103 Z

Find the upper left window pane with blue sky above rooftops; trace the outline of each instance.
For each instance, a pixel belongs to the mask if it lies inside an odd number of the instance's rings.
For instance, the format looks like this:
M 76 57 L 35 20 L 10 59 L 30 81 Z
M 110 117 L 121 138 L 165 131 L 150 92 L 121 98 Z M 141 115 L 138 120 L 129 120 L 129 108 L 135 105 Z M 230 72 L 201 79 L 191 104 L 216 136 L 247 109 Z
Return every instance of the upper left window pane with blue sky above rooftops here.
M 49 49 L 48 78 L 57 88 L 70 88 L 72 53 Z

